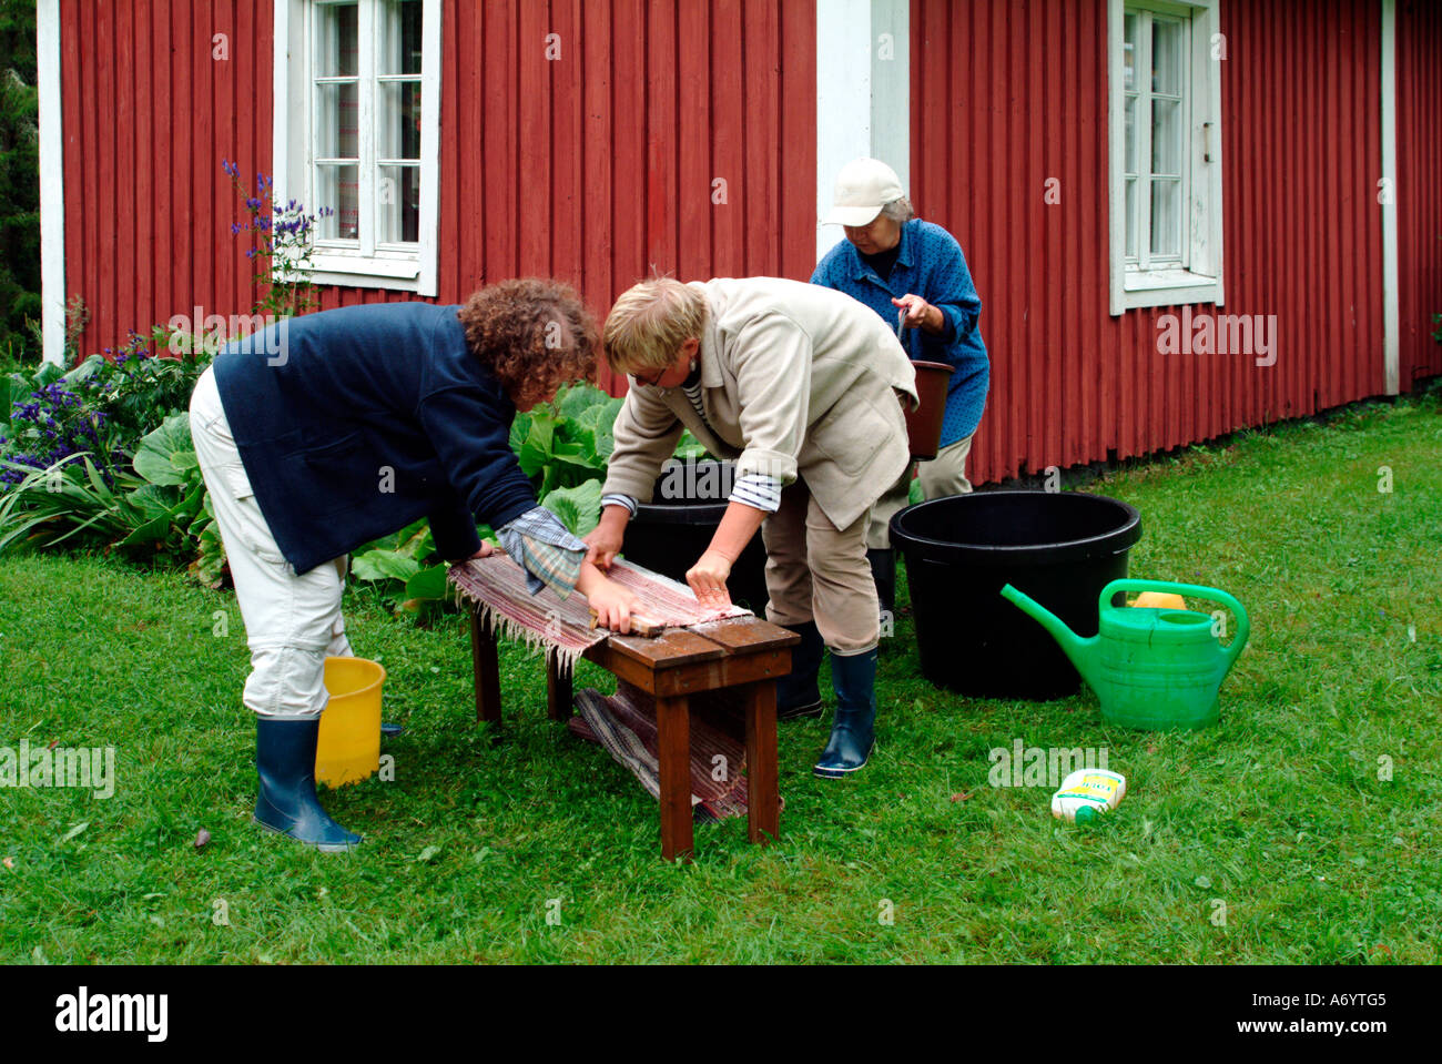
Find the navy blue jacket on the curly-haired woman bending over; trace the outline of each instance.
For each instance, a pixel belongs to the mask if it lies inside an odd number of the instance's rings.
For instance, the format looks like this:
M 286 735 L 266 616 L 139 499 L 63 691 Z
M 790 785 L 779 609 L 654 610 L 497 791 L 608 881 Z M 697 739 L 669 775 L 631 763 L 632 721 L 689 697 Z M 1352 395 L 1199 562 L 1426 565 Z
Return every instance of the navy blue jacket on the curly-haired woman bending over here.
M 215 358 L 225 417 L 281 554 L 306 572 L 427 516 L 464 558 L 535 506 L 516 408 L 459 307 L 378 303 L 280 322 Z

